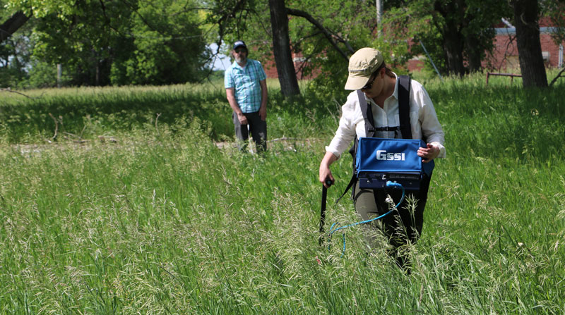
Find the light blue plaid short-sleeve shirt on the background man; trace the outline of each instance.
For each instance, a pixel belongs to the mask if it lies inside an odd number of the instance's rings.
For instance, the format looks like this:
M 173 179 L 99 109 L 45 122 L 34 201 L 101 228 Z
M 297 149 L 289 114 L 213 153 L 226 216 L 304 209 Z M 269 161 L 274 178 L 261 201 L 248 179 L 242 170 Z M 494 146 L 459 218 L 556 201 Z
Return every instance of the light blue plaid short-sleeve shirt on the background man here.
M 261 85 L 267 75 L 259 61 L 247 59 L 244 68 L 234 61 L 224 75 L 226 89 L 234 88 L 235 100 L 244 113 L 254 113 L 261 107 Z

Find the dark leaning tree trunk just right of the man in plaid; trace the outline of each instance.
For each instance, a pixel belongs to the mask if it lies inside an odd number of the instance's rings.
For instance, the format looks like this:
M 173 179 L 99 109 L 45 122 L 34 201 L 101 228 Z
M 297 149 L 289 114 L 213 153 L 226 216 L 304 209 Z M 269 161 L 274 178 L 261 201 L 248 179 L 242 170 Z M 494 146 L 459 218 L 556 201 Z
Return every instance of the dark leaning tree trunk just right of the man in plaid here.
M 270 25 L 273 29 L 273 54 L 277 66 L 280 92 L 284 97 L 300 94 L 295 63 L 290 53 L 288 16 L 284 0 L 269 0 Z

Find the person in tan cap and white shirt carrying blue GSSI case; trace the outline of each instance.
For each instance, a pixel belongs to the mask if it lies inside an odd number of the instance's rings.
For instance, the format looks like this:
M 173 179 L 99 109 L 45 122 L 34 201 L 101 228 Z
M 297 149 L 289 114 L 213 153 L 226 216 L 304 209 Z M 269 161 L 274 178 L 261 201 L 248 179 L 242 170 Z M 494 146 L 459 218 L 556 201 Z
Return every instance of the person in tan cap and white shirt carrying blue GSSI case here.
M 359 105 L 358 95 L 363 95 L 370 106 L 374 118 L 374 137 L 403 137 L 400 130 L 398 86 L 398 76 L 386 68 L 380 51 L 363 48 L 351 56 L 349 78 L 345 83 L 345 89 L 360 89 L 364 93 L 352 92 L 343 105 L 338 130 L 330 145 L 326 147 L 326 154 L 320 163 L 319 179 L 323 185 L 328 187 L 325 183 L 327 178 L 334 181 L 330 166 L 339 159 L 355 136 L 370 137 L 367 135 L 366 122 Z M 437 119 L 432 100 L 424 87 L 415 80 L 411 80 L 410 83 L 409 104 L 412 138 L 427 140 L 427 146 L 418 149 L 418 156 L 422 157 L 424 163 L 429 163 L 436 157 L 446 156 L 444 132 Z M 374 224 L 371 224 L 368 230 L 367 238 L 371 246 L 376 245 L 374 237 L 371 236 L 374 235 L 374 230 L 383 231 L 392 245 L 390 253 L 399 266 L 405 266 L 407 263 L 406 252 L 399 250 L 400 247 L 415 242 L 422 232 L 429 180 L 430 177 L 425 176 L 420 184 L 420 190 L 415 192 L 413 197 L 417 199 L 416 206 L 410 207 L 408 202 L 404 201 L 400 204 L 399 209 L 393 211 L 395 215 L 384 216 L 380 221 L 373 221 Z M 391 202 L 387 202 L 385 191 L 359 189 L 358 182 L 355 183 L 353 195 L 355 210 L 363 220 L 386 214 L 391 207 Z M 402 197 L 402 192 L 391 192 L 390 195 L 393 203 L 397 204 Z

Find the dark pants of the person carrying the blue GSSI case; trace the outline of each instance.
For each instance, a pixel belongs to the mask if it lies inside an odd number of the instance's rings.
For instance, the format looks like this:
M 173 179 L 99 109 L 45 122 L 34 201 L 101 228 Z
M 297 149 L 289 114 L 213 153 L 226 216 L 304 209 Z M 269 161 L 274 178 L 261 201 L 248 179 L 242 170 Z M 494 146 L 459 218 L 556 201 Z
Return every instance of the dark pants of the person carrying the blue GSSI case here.
M 398 206 L 398 209 L 377 221 L 371 222 L 370 226 L 365 225 L 369 228 L 367 236 L 369 245 L 374 247 L 376 242 L 373 237 L 374 232 L 381 230 L 388 238 L 388 242 L 392 247 L 389 253 L 396 259 L 397 264 L 403 268 L 409 268 L 409 266 L 405 265 L 409 265 L 410 261 L 408 261 L 408 255 L 405 250 L 400 250 L 400 247 L 407 245 L 408 242 L 415 243 L 420 237 L 420 233 L 422 233 L 424 208 L 428 199 L 430 180 L 431 176 L 424 176 L 422 183 L 420 183 L 420 190 L 417 192 L 407 192 L 404 201 Z M 389 210 L 389 204 L 386 202 L 387 193 L 393 198 L 394 204 L 398 204 L 402 197 L 402 190 L 362 190 L 359 189 L 359 181 L 357 181 L 353 197 L 355 211 L 363 220 L 386 214 Z M 408 204 L 407 199 L 410 194 L 417 199 L 414 209 L 410 209 Z

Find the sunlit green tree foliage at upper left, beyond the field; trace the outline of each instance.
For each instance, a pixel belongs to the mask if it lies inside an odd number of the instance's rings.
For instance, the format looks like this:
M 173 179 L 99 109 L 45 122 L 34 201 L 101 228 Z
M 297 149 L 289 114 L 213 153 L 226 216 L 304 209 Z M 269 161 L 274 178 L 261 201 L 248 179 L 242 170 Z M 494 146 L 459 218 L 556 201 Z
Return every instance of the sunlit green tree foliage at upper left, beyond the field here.
M 6 8 L 37 18 L 33 57 L 62 64 L 72 85 L 163 85 L 202 80 L 208 68 L 200 5 L 8 0 Z

